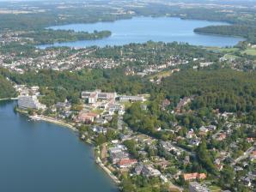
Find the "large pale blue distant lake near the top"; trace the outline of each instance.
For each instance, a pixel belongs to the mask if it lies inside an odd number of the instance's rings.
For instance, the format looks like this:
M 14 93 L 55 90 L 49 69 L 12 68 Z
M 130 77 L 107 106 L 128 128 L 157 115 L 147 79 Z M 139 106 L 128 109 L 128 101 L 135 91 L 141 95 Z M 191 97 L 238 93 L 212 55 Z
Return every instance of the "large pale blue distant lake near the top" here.
M 91 45 L 127 45 L 130 43 L 144 43 L 149 40 L 162 42 L 187 42 L 191 45 L 227 46 L 235 45 L 241 38 L 204 35 L 193 32 L 197 27 L 210 25 L 227 25 L 222 22 L 181 20 L 174 17 L 134 17 L 129 20 L 114 22 L 97 22 L 93 24 L 72 24 L 50 27 L 52 29 L 72 29 L 76 32 L 92 33 L 94 30 L 109 30 L 111 37 L 97 40 L 82 40 L 68 43 L 56 43 L 53 46 L 87 47 Z M 40 45 L 46 48 L 52 45 Z

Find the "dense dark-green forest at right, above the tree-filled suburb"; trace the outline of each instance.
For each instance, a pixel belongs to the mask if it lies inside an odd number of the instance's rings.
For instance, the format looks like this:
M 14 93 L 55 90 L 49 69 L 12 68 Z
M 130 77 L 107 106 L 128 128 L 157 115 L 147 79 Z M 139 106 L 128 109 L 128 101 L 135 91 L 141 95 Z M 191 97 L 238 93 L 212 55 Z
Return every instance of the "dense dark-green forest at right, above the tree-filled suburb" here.
M 182 87 L 182 88 L 180 88 Z M 256 74 L 232 69 L 187 70 L 162 82 L 168 98 L 196 95 L 192 108 L 220 111 L 256 110 Z

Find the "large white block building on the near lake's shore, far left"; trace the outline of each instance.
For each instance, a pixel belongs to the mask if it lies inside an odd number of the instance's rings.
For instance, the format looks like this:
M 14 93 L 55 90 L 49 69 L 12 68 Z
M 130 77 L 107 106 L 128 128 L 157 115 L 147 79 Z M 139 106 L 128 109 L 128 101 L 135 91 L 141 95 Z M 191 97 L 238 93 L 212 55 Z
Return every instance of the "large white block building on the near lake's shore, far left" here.
M 40 104 L 36 96 L 20 96 L 18 99 L 18 106 L 21 109 L 46 109 L 46 105 Z

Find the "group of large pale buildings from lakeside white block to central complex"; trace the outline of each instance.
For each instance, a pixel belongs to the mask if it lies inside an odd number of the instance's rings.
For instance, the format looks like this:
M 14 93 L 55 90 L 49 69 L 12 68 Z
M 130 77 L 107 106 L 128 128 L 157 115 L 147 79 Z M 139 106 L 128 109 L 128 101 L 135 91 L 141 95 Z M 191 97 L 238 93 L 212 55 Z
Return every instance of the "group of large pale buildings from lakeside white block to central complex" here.
M 46 105 L 40 104 L 39 87 L 27 87 L 16 85 L 16 91 L 20 94 L 18 105 L 21 109 L 46 110 Z M 59 118 L 66 118 L 72 115 L 76 123 L 99 123 L 104 124 L 112 120 L 114 114 L 119 116 L 125 113 L 125 102 L 145 101 L 144 95 L 119 95 L 117 93 L 101 92 L 101 90 L 85 91 L 81 93 L 84 100 L 82 110 L 72 113 L 71 104 L 68 100 L 58 102 L 50 107 L 52 112 L 58 111 Z

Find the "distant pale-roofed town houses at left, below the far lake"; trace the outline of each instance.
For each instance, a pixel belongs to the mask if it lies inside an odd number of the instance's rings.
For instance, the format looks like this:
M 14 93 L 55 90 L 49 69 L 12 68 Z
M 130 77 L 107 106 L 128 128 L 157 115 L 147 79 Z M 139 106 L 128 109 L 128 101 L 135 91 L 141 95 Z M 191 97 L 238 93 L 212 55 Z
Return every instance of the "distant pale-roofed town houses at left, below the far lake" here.
M 4 38 L 3 41 L 5 42 L 6 40 L 21 41 L 18 37 L 11 37 L 10 39 Z M 76 51 L 75 53 L 68 50 L 55 49 L 41 51 L 40 49 L 35 49 L 34 53 L 39 51 L 42 53 L 39 57 L 18 57 L 15 54 L 0 53 L 0 66 L 21 74 L 24 73 L 26 69 L 53 69 L 61 71 L 65 69 L 80 70 L 84 68 L 113 69 L 119 66 L 119 63 L 114 62 L 113 59 L 84 57 L 84 55 L 88 55 L 94 51 L 91 49 Z M 62 57 L 59 57 L 60 55 Z M 66 55 L 66 57 L 63 57 L 63 55 Z

